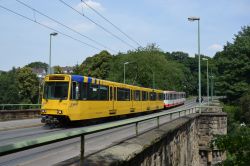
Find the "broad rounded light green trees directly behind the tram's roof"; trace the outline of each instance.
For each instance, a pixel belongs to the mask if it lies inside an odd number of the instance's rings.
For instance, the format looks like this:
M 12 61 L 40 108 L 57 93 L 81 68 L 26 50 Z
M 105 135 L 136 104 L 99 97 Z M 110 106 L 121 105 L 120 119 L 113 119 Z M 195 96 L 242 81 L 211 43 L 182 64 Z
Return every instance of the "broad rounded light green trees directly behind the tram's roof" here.
M 128 84 L 168 90 L 184 89 L 184 66 L 168 61 L 164 52 L 155 45 L 120 53 L 112 62 L 109 80 L 123 82 L 124 63 L 129 62 L 125 68 Z

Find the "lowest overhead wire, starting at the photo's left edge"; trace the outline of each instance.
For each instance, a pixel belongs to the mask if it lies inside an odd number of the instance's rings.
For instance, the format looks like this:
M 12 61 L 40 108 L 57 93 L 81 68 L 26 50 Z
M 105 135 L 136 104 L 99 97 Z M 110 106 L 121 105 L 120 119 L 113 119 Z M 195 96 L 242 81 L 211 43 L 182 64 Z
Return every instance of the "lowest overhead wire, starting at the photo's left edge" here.
M 65 33 L 61 32 L 61 31 L 59 31 L 59 30 L 56 30 L 56 29 L 54 29 L 54 28 L 48 26 L 48 25 L 45 25 L 45 24 L 43 24 L 43 23 L 40 23 L 40 22 L 38 22 L 37 20 L 33 20 L 33 19 L 31 19 L 31 18 L 29 18 L 29 17 L 27 17 L 27 16 L 24 16 L 24 15 L 22 15 L 22 14 L 20 14 L 20 13 L 17 13 L 17 12 L 15 12 L 15 11 L 9 9 L 9 8 L 6 8 L 6 7 L 2 6 L 2 5 L 0 5 L 0 8 L 6 10 L 6 11 L 8 11 L 8 12 L 11 12 L 11 13 L 13 13 L 13 14 L 15 14 L 15 15 L 18 15 L 18 16 L 20 16 L 20 17 L 22 17 L 22 18 L 25 18 L 26 20 L 29 20 L 29 21 L 34 22 L 34 23 L 36 23 L 36 24 L 39 24 L 39 25 L 41 25 L 41 26 L 43 26 L 43 27 L 45 27 L 45 28 L 47 28 L 47 29 L 50 29 L 50 30 L 52 30 L 52 31 L 55 31 L 55 32 L 57 32 L 57 33 L 59 33 L 59 34 L 61 34 L 61 35 L 63 35 L 63 36 L 66 36 L 66 37 L 68 37 L 68 38 L 70 38 L 70 39 L 72 39 L 72 40 L 75 40 L 75 41 L 77 41 L 77 42 L 79 42 L 79 43 L 82 43 L 82 44 L 84 44 L 84 45 L 87 45 L 87 46 L 89 46 L 89 47 L 91 47 L 91 48 L 94 48 L 94 49 L 96 49 L 96 50 L 98 50 L 98 51 L 102 51 L 100 48 L 97 48 L 97 47 L 95 47 L 95 46 L 93 46 L 93 45 L 91 45 L 91 44 L 88 44 L 88 43 L 83 42 L 83 41 L 81 41 L 81 40 L 79 40 L 79 39 L 76 39 L 76 38 L 74 38 L 74 37 L 72 37 L 72 36 L 70 36 L 70 35 L 68 35 L 68 34 L 65 34 Z

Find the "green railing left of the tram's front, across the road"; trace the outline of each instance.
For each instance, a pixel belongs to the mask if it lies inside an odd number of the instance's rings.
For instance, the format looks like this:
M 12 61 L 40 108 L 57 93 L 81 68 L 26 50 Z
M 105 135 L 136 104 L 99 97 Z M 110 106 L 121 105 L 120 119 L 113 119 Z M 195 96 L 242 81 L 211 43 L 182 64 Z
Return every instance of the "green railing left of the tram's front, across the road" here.
M 41 104 L 0 104 L 0 110 L 40 109 Z

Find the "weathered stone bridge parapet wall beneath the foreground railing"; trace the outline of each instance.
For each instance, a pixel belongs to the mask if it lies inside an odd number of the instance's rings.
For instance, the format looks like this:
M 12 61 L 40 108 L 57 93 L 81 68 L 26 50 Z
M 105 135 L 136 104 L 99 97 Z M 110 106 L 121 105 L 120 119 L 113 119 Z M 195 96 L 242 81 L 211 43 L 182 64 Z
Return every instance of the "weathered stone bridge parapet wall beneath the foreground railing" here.
M 223 112 L 192 114 L 173 120 L 113 147 L 88 156 L 89 166 L 201 166 L 214 165 L 225 158 L 210 149 L 215 134 L 226 134 Z M 79 165 L 79 157 L 58 165 Z

